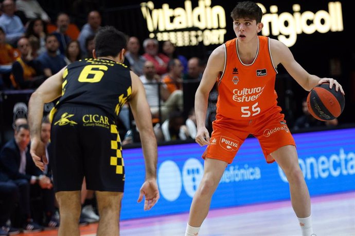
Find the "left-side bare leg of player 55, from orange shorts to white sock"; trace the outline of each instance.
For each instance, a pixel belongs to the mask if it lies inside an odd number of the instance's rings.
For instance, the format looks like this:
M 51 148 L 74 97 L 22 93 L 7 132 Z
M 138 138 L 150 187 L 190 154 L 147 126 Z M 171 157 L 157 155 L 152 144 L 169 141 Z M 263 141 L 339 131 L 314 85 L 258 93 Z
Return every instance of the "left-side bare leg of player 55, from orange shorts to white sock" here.
M 189 225 L 200 227 L 207 217 L 211 198 L 221 180 L 226 162 L 216 159 L 206 159 L 203 178 L 193 196 L 189 214 Z

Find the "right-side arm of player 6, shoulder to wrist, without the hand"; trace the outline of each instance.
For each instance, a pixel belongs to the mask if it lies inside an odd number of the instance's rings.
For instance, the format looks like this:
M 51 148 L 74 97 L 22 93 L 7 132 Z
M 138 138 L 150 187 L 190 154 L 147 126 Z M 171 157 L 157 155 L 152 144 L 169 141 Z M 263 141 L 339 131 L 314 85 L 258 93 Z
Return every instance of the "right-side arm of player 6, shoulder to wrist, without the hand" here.
M 139 130 L 146 163 L 146 180 L 152 178 L 156 179 L 157 147 L 152 126 L 152 116 L 143 84 L 139 77 L 133 72 L 131 72 L 131 78 L 132 95 L 129 103 Z

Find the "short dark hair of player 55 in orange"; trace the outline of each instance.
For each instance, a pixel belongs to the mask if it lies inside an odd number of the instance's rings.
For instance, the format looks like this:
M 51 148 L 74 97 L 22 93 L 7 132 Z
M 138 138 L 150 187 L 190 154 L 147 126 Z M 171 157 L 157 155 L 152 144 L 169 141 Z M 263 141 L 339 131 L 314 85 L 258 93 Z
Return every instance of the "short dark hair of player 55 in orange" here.
M 239 18 L 250 18 L 255 19 L 256 23 L 260 23 L 262 11 L 261 8 L 254 2 L 239 2 L 233 11 L 230 12 L 230 16 L 233 20 Z

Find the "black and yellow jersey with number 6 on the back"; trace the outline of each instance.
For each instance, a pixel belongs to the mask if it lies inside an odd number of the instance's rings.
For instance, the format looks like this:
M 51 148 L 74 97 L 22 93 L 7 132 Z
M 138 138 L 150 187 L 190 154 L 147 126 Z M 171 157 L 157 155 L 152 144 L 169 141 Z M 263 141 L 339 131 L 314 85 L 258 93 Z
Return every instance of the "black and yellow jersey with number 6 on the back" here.
M 64 104 L 95 106 L 116 120 L 131 93 L 130 69 L 124 64 L 112 60 L 80 60 L 64 70 L 62 96 L 54 109 Z

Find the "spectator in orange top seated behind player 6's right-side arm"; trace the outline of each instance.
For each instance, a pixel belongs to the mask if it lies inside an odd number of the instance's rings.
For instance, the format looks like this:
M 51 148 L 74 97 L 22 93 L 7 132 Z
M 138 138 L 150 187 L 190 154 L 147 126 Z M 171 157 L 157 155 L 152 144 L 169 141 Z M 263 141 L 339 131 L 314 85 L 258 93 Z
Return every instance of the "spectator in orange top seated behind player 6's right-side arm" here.
M 162 82 L 168 91 L 182 90 L 183 65 L 178 58 L 174 58 L 168 63 L 168 73 L 163 77 Z

